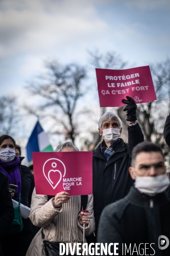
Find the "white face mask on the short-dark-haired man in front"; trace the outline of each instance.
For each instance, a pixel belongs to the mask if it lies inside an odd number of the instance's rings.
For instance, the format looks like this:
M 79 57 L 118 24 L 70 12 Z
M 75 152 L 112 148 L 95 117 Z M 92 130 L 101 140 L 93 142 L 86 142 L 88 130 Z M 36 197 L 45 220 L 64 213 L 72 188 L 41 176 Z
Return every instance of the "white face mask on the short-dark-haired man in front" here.
M 155 177 L 136 177 L 135 187 L 140 192 L 153 196 L 164 192 L 170 185 L 170 180 L 166 174 Z

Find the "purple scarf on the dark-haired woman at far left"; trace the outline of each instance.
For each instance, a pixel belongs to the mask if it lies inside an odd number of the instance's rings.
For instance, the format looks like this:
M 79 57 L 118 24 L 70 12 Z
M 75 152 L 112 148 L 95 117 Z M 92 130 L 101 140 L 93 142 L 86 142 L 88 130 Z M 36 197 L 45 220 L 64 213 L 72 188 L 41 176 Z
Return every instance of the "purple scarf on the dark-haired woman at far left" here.
M 16 195 L 19 197 L 21 191 L 21 175 L 19 169 L 20 158 L 15 157 L 11 163 L 6 163 L 0 160 L 0 171 L 5 173 L 8 177 L 9 184 L 17 185 L 15 191 Z

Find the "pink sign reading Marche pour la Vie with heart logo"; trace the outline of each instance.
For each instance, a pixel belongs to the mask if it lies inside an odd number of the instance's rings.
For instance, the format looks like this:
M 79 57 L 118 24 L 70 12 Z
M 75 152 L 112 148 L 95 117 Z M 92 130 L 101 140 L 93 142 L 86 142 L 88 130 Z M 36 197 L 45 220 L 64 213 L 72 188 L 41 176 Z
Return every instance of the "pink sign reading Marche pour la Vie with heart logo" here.
M 33 152 L 36 194 L 92 194 L 92 152 Z

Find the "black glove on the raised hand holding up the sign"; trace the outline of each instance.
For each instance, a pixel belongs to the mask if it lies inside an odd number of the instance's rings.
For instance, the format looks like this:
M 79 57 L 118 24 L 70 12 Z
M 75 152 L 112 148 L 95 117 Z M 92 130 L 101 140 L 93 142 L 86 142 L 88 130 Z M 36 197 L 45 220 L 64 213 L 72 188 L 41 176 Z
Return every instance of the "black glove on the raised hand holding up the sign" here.
M 137 114 L 136 114 L 137 105 L 134 102 L 134 100 L 132 98 L 130 98 L 129 96 L 126 96 L 126 99 L 122 99 L 122 102 L 127 104 L 125 106 L 125 108 L 123 109 L 123 111 L 127 111 L 126 121 L 130 121 L 130 122 L 134 121 L 135 122 L 138 119 Z

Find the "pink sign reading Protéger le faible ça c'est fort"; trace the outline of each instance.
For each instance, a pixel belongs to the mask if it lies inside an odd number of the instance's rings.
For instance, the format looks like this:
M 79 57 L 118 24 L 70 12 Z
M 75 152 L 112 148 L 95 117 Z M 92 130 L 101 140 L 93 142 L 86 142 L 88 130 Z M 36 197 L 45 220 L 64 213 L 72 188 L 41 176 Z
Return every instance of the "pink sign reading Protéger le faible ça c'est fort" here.
M 127 70 L 96 68 L 100 107 L 121 107 L 122 99 L 130 96 L 136 103 L 156 100 L 150 67 Z

